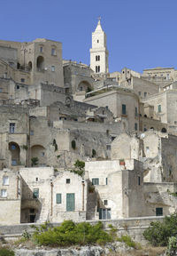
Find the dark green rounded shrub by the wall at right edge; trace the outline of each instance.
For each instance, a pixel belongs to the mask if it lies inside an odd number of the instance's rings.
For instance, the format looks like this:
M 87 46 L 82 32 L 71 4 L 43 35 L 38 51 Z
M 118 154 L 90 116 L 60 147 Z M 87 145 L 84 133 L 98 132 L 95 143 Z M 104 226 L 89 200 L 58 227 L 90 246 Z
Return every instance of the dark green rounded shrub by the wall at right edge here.
M 155 246 L 166 246 L 171 236 L 177 236 L 177 213 L 165 216 L 162 222 L 154 221 L 150 223 L 143 236 Z

